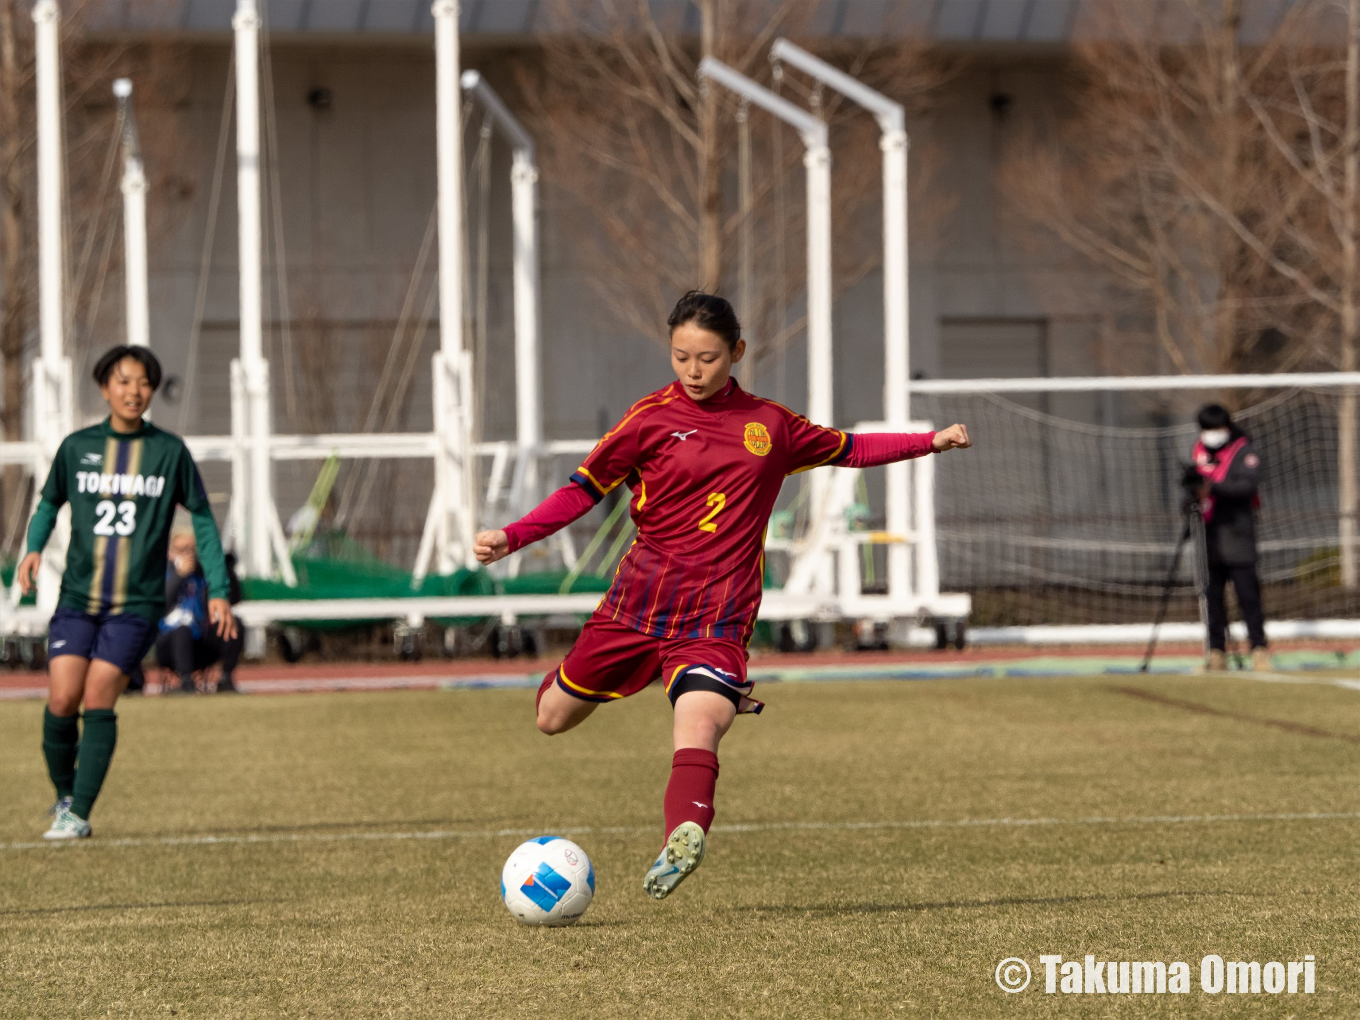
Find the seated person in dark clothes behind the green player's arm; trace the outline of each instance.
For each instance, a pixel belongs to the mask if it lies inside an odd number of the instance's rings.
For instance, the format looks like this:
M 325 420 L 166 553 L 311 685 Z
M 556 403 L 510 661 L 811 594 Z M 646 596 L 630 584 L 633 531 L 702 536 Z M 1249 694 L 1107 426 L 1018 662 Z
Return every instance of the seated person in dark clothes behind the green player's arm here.
M 193 673 L 222 662 L 218 692 L 235 691 L 231 673 L 241 658 L 242 638 L 219 638 L 208 626 L 208 581 L 199 566 L 199 549 L 192 530 L 177 530 L 170 536 L 169 566 L 166 570 L 166 615 L 160 619 L 156 636 L 156 660 L 165 669 L 180 677 L 178 687 L 166 694 L 193 694 Z M 241 601 L 241 585 L 228 559 L 227 577 L 231 601 Z

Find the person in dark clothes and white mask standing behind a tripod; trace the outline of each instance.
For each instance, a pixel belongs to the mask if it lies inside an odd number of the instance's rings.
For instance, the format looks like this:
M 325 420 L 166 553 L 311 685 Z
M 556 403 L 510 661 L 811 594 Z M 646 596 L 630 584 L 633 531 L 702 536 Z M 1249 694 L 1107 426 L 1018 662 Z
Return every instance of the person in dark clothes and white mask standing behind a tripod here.
M 1261 608 L 1261 579 L 1257 577 L 1257 494 L 1261 458 L 1251 438 L 1232 422 L 1219 404 L 1200 408 L 1200 438 L 1187 472 L 1191 495 L 1198 500 L 1204 521 L 1205 554 L 1209 567 L 1205 604 L 1208 609 L 1210 672 L 1227 669 L 1228 613 L 1224 594 L 1228 582 L 1238 594 L 1238 607 L 1251 642 L 1251 668 L 1270 670 L 1266 647 L 1265 612 Z

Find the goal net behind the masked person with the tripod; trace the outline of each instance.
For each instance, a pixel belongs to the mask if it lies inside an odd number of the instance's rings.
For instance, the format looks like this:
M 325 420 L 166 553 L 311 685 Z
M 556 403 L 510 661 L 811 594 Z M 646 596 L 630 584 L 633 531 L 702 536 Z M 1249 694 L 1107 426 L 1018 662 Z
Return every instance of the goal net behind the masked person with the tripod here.
M 940 585 L 972 596 L 971 626 L 1151 622 L 1205 403 L 1228 407 L 1261 457 L 1268 619 L 1360 616 L 1360 589 L 1344 586 L 1341 568 L 1341 390 L 1285 389 L 1270 377 L 1212 392 L 959 385 L 913 394 L 911 412 L 937 427 L 964 422 L 974 438 L 967 454 L 940 458 L 936 479 Z M 1195 594 L 1186 555 L 1167 619 L 1197 620 Z M 1232 601 L 1229 615 L 1240 619 Z

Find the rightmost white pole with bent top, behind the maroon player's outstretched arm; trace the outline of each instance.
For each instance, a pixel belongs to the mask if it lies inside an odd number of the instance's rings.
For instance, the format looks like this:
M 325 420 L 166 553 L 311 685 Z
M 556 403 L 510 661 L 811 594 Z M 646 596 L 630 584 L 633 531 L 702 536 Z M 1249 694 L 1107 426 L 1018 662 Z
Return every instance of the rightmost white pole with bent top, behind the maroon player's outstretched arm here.
M 907 131 L 906 110 L 881 92 L 834 68 L 824 60 L 775 39 L 770 58 L 792 64 L 823 84 L 869 110 L 883 136 L 883 416 L 889 428 L 903 431 L 910 420 L 911 343 L 907 258 Z M 887 469 L 887 525 L 896 534 L 907 532 L 911 515 L 910 473 L 906 464 Z M 910 573 L 906 545 L 888 547 L 888 592 L 906 596 Z

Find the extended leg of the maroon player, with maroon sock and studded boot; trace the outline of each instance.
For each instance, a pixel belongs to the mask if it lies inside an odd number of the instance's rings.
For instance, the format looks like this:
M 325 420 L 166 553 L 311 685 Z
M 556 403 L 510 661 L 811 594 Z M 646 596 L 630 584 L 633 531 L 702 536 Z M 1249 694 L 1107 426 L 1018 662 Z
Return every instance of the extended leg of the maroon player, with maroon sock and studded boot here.
M 668 835 L 642 880 L 653 899 L 669 896 L 703 864 L 718 786 L 718 743 L 737 717 L 736 696 L 714 690 L 683 690 L 673 703 L 676 752 L 665 797 Z

